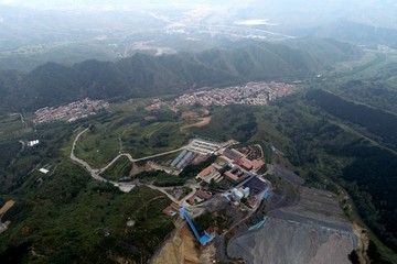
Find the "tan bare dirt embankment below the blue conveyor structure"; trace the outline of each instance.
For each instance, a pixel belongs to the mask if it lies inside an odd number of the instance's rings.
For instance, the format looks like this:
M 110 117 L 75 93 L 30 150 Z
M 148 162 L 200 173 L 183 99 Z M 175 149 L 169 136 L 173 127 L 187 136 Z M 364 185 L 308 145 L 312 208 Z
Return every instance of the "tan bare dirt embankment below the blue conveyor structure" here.
M 195 238 L 187 227 L 183 224 L 164 244 L 151 263 L 198 264 L 198 252 L 196 251 L 194 243 Z

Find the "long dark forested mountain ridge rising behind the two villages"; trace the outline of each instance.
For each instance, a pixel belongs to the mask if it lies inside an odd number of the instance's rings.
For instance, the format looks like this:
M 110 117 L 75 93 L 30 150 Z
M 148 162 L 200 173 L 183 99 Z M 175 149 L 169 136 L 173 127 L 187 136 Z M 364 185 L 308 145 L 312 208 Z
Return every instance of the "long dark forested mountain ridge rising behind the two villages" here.
M 191 87 L 294 80 L 360 54 L 361 51 L 350 44 L 303 38 L 197 54 L 152 56 L 138 53 L 115 63 L 90 59 L 72 67 L 46 63 L 28 74 L 0 74 L 0 106 L 2 111 L 35 110 L 85 97 L 148 97 L 179 94 Z

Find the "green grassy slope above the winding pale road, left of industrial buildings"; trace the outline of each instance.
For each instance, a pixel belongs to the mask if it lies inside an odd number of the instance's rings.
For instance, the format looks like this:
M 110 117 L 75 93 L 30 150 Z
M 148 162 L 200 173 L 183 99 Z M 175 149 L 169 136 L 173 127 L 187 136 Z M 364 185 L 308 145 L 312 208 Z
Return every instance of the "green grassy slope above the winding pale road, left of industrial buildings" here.
M 149 100 L 146 103 L 149 105 Z M 119 152 L 139 158 L 175 150 L 187 142 L 187 135 L 180 132 L 182 122 L 175 113 L 169 109 L 146 112 L 142 106 L 142 102 L 115 106 L 110 120 L 95 123 L 82 135 L 77 156 L 95 167 L 104 167 Z M 157 120 L 144 121 L 146 116 Z

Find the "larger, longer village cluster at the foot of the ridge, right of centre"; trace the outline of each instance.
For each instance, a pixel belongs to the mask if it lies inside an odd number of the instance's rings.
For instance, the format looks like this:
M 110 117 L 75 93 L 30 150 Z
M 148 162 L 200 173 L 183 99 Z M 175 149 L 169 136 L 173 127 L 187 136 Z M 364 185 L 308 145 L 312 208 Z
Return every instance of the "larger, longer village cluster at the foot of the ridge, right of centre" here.
M 293 91 L 294 86 L 285 82 L 248 82 L 245 86 L 184 94 L 175 99 L 174 105 L 176 107 L 193 105 L 202 105 L 204 107 L 228 105 L 264 106 L 278 97 L 290 95 Z

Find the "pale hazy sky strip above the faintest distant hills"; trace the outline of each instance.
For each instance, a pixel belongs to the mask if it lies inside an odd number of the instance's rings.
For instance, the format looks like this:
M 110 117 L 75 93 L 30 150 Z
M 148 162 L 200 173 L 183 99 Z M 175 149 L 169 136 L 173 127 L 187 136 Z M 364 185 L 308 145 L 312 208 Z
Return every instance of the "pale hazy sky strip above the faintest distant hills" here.
M 276 24 L 328 23 L 351 20 L 397 28 L 396 0 L 0 0 L 0 4 L 34 9 L 88 11 L 144 10 L 162 8 L 212 10 L 222 16 L 269 20 Z M 195 6 L 192 7 L 191 6 Z M 238 12 L 235 12 L 238 10 Z M 214 15 L 216 16 L 216 15 Z M 1 22 L 1 7 L 0 7 Z

